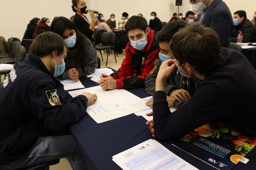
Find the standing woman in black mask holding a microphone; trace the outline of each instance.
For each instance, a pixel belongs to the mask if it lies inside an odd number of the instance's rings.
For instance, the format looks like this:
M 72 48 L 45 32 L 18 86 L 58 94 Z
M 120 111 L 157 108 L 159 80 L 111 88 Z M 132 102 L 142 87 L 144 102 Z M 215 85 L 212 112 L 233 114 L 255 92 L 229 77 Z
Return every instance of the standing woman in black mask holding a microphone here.
M 95 26 L 98 25 L 98 20 L 95 21 L 93 9 L 89 9 L 88 12 L 86 12 L 85 9 L 87 9 L 87 6 L 84 0 L 72 0 L 72 10 L 76 12 L 73 22 L 77 29 L 86 35 L 86 37 L 92 42 L 92 35 Z M 87 13 L 91 16 L 91 22 L 89 22 L 87 17 L 84 15 Z

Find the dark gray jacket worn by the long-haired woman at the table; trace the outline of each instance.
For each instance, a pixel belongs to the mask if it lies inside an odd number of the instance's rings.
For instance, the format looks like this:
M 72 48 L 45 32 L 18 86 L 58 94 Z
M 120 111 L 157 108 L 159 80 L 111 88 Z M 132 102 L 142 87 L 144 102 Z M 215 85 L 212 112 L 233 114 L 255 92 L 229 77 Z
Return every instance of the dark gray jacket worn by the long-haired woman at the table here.
M 92 45 L 92 43 L 86 42 L 86 46 L 84 48 L 84 58 L 86 62 L 85 71 L 87 75 L 94 73 L 95 69 L 98 67 L 97 65 L 97 54 Z M 76 68 L 79 73 L 79 78 L 86 78 L 85 74 L 82 72 L 79 54 L 75 56 L 69 56 L 65 59 L 65 71 L 62 73 L 59 78 L 60 80 L 70 79 L 69 78 L 69 69 Z

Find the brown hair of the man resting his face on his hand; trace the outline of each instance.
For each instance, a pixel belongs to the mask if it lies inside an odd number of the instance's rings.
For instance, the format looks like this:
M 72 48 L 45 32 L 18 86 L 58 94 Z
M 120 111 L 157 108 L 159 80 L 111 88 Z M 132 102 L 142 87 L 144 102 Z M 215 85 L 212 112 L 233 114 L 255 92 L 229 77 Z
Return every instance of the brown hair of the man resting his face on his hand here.
M 195 22 L 180 29 L 170 42 L 170 49 L 179 64 L 189 63 L 199 74 L 219 67 L 220 41 L 215 31 Z

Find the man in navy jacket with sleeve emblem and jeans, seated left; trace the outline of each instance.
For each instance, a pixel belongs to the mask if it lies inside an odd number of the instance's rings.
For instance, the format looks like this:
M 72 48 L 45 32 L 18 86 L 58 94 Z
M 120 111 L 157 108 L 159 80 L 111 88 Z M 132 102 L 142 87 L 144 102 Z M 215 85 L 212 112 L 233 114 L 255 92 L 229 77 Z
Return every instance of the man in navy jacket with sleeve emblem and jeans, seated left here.
M 67 51 L 61 36 L 38 35 L 28 57 L 18 59 L 0 85 L 0 169 L 27 169 L 61 158 L 75 170 L 87 169 L 69 128 L 97 96 L 83 93 L 66 101 L 54 76 L 64 71 Z

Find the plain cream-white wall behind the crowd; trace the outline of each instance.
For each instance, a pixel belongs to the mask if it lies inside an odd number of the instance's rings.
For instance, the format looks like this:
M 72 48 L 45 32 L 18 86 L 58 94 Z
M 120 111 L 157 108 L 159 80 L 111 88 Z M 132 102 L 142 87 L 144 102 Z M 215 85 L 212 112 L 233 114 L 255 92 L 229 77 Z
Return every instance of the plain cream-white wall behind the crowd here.
M 236 10 L 245 10 L 251 20 L 256 10 L 256 0 L 224 0 L 232 14 Z M 175 0 L 86 0 L 88 8 L 100 11 L 106 19 L 114 13 L 117 23 L 122 13 L 127 12 L 129 16 L 142 13 L 149 22 L 150 13 L 155 11 L 162 21 L 168 22 L 174 12 L 178 12 Z M 55 16 L 70 18 L 75 13 L 71 8 L 71 0 L 22 0 L 6 1 L 0 0 L 1 27 L 0 36 L 8 39 L 18 37 L 22 39 L 26 26 L 34 18 L 48 17 L 51 21 Z M 191 10 L 188 0 L 183 0 L 179 12 L 183 15 Z M 86 14 L 90 20 L 89 14 Z

